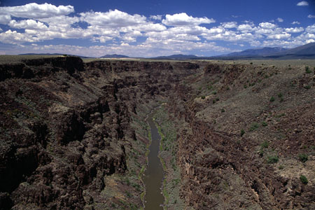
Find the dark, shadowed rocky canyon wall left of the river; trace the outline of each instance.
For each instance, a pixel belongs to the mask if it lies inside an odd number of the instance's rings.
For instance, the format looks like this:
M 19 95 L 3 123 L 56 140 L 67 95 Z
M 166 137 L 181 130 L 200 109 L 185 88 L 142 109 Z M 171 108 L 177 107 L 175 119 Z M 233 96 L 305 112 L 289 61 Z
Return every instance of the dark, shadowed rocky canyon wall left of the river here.
M 141 181 L 122 181 L 139 167 L 127 166 L 141 139 L 131 115 L 197 68 L 77 57 L 2 64 L 1 209 L 141 207 Z

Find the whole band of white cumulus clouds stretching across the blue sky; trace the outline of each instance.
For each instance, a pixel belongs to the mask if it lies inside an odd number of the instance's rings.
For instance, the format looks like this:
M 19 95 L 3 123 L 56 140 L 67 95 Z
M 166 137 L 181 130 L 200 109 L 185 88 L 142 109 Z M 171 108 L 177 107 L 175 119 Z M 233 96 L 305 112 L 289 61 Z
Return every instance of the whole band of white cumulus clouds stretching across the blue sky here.
M 0 29 L 0 42 L 12 46 L 23 44 L 27 48 L 31 46 L 36 52 L 65 52 L 90 56 L 137 53 L 137 56 L 146 57 L 190 53 L 190 50 L 210 54 L 231 51 L 229 48 L 216 45 L 214 41 L 235 45 L 246 43 L 254 47 L 268 45 L 288 47 L 315 40 L 315 25 L 283 28 L 275 24 L 276 21 L 283 22 L 281 18 L 260 23 L 246 20 L 240 25 L 237 22 L 221 22 L 210 27 L 211 25 L 202 24 L 215 22 L 214 19 L 196 18 L 186 13 L 146 17 L 120 10 L 108 12 L 91 10 L 69 15 L 73 11 L 73 6 L 53 6 L 48 3 L 0 8 L 0 24 L 7 25 L 6 31 L 2 30 L 3 27 Z M 41 15 L 36 16 L 36 13 Z M 34 16 L 36 18 L 32 18 Z M 295 21 L 292 24 L 299 25 L 300 22 Z M 142 41 L 139 41 L 139 37 Z M 54 38 L 78 38 L 94 43 L 91 47 L 40 43 Z M 193 53 L 195 54 L 195 51 Z

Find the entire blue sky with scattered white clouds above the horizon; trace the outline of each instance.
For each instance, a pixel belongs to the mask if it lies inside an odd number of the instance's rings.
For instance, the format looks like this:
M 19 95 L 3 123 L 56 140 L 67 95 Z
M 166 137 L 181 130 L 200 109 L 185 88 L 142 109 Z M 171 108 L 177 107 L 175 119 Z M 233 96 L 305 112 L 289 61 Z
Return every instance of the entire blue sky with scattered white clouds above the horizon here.
M 315 0 L 0 0 L 0 55 L 224 55 L 315 42 Z

